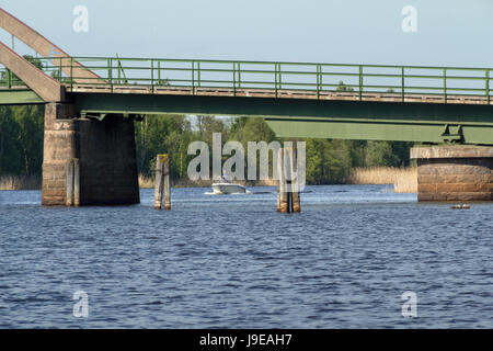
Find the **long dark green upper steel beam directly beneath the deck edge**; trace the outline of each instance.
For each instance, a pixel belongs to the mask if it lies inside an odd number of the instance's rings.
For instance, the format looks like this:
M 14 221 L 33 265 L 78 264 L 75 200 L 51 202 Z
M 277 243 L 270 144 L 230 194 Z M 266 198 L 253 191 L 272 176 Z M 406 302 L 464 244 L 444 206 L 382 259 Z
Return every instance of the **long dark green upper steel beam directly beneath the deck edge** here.
M 171 94 L 73 93 L 80 112 L 358 118 L 493 126 L 493 106 Z

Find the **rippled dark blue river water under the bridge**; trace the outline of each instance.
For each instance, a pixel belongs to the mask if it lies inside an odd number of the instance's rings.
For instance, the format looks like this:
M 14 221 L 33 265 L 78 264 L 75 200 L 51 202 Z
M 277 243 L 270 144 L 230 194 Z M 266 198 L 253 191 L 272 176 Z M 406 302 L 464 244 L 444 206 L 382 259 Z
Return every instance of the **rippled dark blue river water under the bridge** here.
M 152 190 L 82 208 L 0 192 L 0 328 L 493 328 L 492 204 L 307 190 L 298 215 L 275 212 L 273 188 L 173 189 L 171 212 Z

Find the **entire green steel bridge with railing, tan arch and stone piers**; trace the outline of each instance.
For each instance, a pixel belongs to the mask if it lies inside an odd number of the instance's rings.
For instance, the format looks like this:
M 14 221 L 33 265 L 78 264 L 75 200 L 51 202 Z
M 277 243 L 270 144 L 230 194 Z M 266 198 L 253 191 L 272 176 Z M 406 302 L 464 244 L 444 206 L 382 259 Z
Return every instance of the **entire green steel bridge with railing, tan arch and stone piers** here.
M 493 68 L 72 57 L 0 8 L 0 105 L 45 104 L 44 205 L 139 202 L 133 120 L 264 117 L 289 138 L 403 140 L 419 201 L 493 200 Z M 484 145 L 484 147 L 480 147 Z

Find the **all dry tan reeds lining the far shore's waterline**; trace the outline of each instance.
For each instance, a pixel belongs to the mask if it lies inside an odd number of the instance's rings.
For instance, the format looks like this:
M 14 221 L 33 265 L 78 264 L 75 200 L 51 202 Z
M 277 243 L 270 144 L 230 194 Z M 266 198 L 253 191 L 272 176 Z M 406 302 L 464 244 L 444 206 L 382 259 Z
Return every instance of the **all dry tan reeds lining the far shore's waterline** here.
M 190 181 L 181 179 L 172 181 L 173 188 L 208 188 L 211 181 Z M 276 186 L 276 182 L 267 181 L 239 181 L 241 185 L 245 186 Z M 416 167 L 368 167 L 354 168 L 347 181 L 344 184 L 353 185 L 385 185 L 390 184 L 394 186 L 395 193 L 416 193 L 417 192 L 417 168 Z M 42 180 L 34 176 L 8 176 L 0 178 L 0 191 L 12 190 L 41 190 Z M 152 177 L 139 174 L 139 188 L 152 189 L 154 188 L 154 180 Z

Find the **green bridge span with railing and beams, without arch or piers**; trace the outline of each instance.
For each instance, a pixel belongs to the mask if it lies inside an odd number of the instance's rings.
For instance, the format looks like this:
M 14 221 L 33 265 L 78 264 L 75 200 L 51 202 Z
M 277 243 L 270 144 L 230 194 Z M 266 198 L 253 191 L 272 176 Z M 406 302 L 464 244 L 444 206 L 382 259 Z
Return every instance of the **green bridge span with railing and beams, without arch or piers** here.
M 282 137 L 493 145 L 492 68 L 121 57 L 37 60 L 65 87 L 81 116 L 262 116 Z M 0 73 L 0 104 L 45 102 L 10 70 Z

